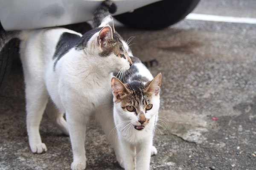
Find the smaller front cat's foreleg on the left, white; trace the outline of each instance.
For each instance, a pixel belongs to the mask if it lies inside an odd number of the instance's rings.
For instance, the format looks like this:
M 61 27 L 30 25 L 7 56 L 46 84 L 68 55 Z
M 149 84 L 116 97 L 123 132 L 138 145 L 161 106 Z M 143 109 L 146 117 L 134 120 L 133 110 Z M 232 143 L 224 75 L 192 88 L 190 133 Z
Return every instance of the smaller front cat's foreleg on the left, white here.
M 136 147 L 134 144 L 119 139 L 122 149 L 122 157 L 124 160 L 125 170 L 136 170 Z M 138 169 L 139 170 L 139 169 Z

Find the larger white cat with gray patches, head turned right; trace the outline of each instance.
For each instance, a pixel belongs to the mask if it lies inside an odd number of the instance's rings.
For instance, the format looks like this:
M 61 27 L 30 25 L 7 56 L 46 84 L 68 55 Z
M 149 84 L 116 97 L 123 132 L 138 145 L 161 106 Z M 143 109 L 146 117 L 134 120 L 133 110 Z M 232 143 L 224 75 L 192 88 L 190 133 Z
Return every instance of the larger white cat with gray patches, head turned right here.
M 46 110 L 62 132 L 70 135 L 71 169 L 85 169 L 85 130 L 89 117 L 94 114 L 122 166 L 116 131 L 110 133 L 114 128 L 111 78 L 112 72 L 129 69 L 131 58 L 128 45 L 114 31 L 113 18 L 105 17 L 99 28 L 84 35 L 65 28 L 46 28 L 22 31 L 20 39 L 32 152 L 47 151 L 39 133 Z

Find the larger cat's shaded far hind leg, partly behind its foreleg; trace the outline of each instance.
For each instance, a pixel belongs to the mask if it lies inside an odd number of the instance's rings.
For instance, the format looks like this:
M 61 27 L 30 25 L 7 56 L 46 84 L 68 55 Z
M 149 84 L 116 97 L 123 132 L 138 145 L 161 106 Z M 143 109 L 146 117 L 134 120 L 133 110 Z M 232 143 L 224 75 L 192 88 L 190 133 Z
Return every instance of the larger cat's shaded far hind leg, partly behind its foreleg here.
M 49 119 L 63 132 L 65 135 L 69 136 L 67 122 L 64 119 L 64 113 L 61 113 L 56 105 L 49 99 L 46 107 L 46 113 Z

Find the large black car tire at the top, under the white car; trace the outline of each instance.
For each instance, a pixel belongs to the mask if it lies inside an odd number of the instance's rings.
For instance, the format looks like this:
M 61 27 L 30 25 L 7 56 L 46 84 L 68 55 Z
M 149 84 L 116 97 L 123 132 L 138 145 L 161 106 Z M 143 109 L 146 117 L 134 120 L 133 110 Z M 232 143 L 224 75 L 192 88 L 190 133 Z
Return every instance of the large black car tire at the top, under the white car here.
M 162 0 L 133 12 L 116 15 L 125 26 L 157 30 L 171 26 L 189 14 L 200 0 Z

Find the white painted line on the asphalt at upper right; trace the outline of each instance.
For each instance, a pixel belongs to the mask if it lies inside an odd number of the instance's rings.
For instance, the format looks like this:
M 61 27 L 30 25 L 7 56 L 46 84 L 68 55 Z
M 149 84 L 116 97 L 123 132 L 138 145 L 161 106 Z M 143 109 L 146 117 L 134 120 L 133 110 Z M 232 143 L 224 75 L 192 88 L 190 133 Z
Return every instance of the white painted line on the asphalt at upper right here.
M 208 14 L 188 14 L 186 16 L 188 20 L 203 20 L 203 21 L 216 21 L 226 23 L 247 23 L 256 24 L 256 18 L 245 18 L 245 17 L 227 17 L 219 15 L 208 15 Z

